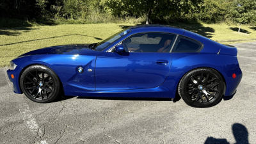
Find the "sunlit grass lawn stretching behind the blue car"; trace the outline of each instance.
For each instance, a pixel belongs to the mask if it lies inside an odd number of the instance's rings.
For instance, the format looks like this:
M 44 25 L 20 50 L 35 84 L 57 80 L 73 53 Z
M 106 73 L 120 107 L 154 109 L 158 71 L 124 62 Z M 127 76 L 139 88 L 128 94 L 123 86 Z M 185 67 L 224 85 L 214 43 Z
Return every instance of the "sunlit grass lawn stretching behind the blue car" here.
M 67 24 L 0 28 L 0 67 L 7 67 L 11 60 L 28 51 L 52 45 L 100 42 L 126 26 L 132 25 L 134 24 Z M 256 28 L 251 26 L 241 26 L 240 33 L 237 33 L 237 26 L 227 24 L 173 24 L 173 26 L 188 29 L 218 41 L 256 39 Z

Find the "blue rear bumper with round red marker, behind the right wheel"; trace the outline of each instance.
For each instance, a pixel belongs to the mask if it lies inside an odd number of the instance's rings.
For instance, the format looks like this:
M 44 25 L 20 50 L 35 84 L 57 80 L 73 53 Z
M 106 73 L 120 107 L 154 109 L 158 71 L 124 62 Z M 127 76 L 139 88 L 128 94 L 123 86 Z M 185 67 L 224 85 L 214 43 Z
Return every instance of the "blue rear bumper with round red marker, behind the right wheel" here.
M 232 70 L 223 71 L 221 73 L 225 77 L 225 81 L 226 81 L 226 92 L 224 95 L 225 96 L 234 95 L 234 93 L 236 93 L 236 88 L 241 82 L 241 79 L 243 77 L 243 73 L 241 69 L 235 68 Z M 233 74 L 236 74 L 236 78 L 232 77 Z

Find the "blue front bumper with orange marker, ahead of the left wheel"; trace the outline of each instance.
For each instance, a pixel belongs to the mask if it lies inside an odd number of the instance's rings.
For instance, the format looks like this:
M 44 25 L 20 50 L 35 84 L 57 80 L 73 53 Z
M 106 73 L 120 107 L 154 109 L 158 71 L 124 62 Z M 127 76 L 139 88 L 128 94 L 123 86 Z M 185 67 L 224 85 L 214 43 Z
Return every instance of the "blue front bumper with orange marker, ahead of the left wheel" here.
M 19 86 L 19 74 L 21 72 L 22 68 L 17 66 L 14 70 L 7 70 L 7 76 L 10 79 L 10 81 L 13 83 L 13 92 L 22 94 Z M 14 78 L 12 78 L 12 74 Z

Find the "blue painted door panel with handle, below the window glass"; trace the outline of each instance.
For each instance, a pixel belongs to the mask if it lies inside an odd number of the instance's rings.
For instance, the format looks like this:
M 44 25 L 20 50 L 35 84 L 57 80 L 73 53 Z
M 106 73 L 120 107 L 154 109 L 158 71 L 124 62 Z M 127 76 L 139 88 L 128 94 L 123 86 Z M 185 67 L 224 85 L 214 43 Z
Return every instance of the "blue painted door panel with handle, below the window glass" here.
M 168 61 L 172 61 L 169 52 L 104 52 L 97 56 L 96 90 L 132 90 L 160 86 L 171 67 Z

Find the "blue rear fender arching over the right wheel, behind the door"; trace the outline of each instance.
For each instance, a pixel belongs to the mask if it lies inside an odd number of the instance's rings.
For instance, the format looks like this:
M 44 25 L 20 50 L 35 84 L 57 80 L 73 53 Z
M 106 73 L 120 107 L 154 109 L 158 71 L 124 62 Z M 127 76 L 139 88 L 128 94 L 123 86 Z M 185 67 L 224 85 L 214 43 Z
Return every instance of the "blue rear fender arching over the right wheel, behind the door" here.
M 236 74 L 241 74 L 239 72 L 239 64 L 236 56 L 223 55 L 223 54 L 211 54 L 211 53 L 171 53 L 172 54 L 172 67 L 166 78 L 166 85 L 168 84 L 172 86 L 171 91 L 172 95 L 175 95 L 177 86 L 179 84 L 180 79 L 189 71 L 200 68 L 200 67 L 208 67 L 218 71 L 221 76 L 223 76 L 223 80 L 226 84 L 226 92 L 225 95 L 229 95 L 232 93 L 234 88 L 230 82 L 227 82 L 227 79 L 230 80 L 232 77 L 232 71 L 236 70 Z M 223 61 L 225 60 L 225 61 Z M 232 74 L 231 74 L 232 73 Z M 171 81 L 171 79 L 175 79 L 175 81 Z M 240 76 L 237 78 L 239 81 Z M 238 83 L 239 84 L 239 83 Z M 237 84 L 237 85 L 238 85 Z M 235 86 L 236 87 L 236 86 Z M 225 88 L 224 88 L 225 89 Z

